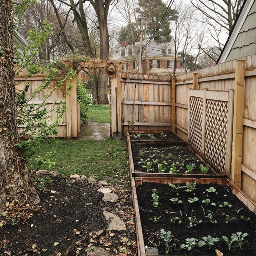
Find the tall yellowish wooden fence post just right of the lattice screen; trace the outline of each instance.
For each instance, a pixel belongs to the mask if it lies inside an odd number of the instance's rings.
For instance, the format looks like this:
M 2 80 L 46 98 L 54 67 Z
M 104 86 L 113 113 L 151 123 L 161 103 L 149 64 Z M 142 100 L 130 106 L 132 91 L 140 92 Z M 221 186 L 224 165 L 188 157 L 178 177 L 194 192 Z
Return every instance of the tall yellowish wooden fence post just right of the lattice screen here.
M 245 60 L 236 61 L 231 180 L 241 188 Z

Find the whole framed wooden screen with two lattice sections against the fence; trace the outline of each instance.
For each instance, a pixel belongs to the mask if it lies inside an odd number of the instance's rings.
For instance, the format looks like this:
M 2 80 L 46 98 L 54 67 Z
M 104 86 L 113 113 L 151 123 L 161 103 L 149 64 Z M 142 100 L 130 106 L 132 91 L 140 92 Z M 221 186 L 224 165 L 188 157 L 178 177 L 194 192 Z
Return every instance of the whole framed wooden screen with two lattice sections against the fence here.
M 188 140 L 214 166 L 230 176 L 233 90 L 189 89 Z

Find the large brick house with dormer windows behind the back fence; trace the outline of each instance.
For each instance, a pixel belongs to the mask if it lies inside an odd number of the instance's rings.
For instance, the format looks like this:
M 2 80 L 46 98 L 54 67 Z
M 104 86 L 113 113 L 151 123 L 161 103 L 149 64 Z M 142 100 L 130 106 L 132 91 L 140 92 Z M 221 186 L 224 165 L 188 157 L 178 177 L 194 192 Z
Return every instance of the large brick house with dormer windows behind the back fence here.
M 145 41 L 143 41 L 143 45 Z M 140 42 L 134 46 L 122 43 L 117 49 L 118 54 L 113 60 L 122 60 L 124 62 L 123 70 L 128 72 L 138 72 L 138 56 L 140 53 Z M 180 57 L 177 56 L 176 74 L 183 72 L 180 67 Z M 162 46 L 156 42 L 150 42 L 143 52 L 142 73 L 144 74 L 173 74 L 174 73 L 174 52 L 170 46 Z

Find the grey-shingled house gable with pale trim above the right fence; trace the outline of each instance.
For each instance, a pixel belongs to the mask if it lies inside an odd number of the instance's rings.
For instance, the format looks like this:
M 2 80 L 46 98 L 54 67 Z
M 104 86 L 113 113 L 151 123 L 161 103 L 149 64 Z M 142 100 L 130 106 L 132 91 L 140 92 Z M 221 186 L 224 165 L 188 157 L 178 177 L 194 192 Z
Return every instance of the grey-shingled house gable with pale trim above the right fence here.
M 240 57 L 244 57 L 246 55 L 246 51 L 244 51 L 244 49 L 241 49 L 243 44 L 244 45 L 249 45 L 248 42 L 246 42 L 246 40 L 250 40 L 250 37 L 252 41 L 256 42 L 256 34 L 252 34 L 252 35 L 239 35 L 241 32 L 241 29 L 244 25 L 244 23 L 246 22 L 246 18 L 248 18 L 248 14 L 254 4 L 255 0 L 244 0 L 244 3 L 240 9 L 240 12 L 236 18 L 236 21 L 232 27 L 232 30 L 228 36 L 228 39 L 226 41 L 226 44 L 217 60 L 217 63 L 222 63 L 225 62 L 230 54 L 230 52 L 232 51 L 232 48 L 237 48 L 236 50 L 233 50 L 233 58 L 232 56 L 230 56 L 230 59 L 236 59 L 236 58 L 240 58 Z M 250 28 L 248 28 L 246 31 L 250 30 L 252 28 L 252 24 L 255 24 L 255 19 L 253 17 L 254 22 L 251 22 L 250 24 Z M 254 26 L 255 27 L 255 26 Z M 240 38 L 238 38 L 238 36 L 240 36 Z M 249 37 L 249 39 L 248 39 Z M 254 39 L 255 38 L 255 39 Z M 240 40 L 240 42 L 238 42 Z M 243 41 L 243 42 L 242 42 Z M 237 47 L 235 46 L 235 43 L 237 44 Z M 233 47 L 234 46 L 234 47 Z M 255 49 L 253 49 L 253 51 L 255 51 Z M 239 54 L 238 54 L 239 53 Z M 255 52 L 254 52 L 255 53 Z M 243 56 L 242 56 L 243 55 Z

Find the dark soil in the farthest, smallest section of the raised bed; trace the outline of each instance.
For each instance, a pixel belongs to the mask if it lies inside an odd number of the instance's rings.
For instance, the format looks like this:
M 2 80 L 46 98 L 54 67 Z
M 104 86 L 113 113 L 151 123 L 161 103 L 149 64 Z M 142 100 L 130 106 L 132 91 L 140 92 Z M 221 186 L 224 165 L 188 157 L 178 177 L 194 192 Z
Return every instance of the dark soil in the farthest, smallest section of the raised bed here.
M 148 134 L 152 134 L 151 136 L 148 136 Z M 153 137 L 152 137 L 153 136 Z M 163 140 L 163 141 L 179 141 L 180 138 L 178 138 L 175 134 L 172 134 L 170 132 L 162 132 L 162 133 L 134 133 L 130 134 L 131 140 Z

